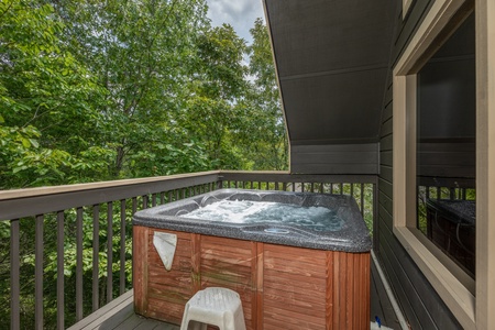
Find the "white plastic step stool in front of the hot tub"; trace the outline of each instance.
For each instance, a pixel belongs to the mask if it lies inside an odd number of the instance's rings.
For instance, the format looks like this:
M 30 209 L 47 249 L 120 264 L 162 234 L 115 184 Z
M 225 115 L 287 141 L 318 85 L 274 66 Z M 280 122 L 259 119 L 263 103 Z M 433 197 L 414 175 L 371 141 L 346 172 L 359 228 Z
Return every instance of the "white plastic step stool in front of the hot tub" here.
M 180 330 L 245 330 L 244 314 L 239 294 L 222 287 L 197 292 L 186 304 Z

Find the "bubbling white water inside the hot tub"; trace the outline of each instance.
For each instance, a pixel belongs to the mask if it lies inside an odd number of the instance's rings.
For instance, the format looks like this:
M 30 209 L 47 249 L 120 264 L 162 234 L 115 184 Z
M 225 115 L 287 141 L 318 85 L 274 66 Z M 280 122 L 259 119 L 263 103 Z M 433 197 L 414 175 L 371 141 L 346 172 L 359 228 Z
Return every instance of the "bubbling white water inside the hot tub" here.
M 232 223 L 302 226 L 315 231 L 339 231 L 343 226 L 337 212 L 324 207 L 251 200 L 220 200 L 179 217 Z

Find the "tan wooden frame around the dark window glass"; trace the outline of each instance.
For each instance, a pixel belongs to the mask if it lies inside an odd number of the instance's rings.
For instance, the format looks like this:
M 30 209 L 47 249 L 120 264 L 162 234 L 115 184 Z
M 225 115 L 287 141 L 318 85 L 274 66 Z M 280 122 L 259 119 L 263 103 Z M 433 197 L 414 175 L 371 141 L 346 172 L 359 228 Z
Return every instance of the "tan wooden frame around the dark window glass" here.
M 466 284 L 460 273 L 446 266 L 444 258 L 438 257 L 432 244 L 420 239 L 416 229 L 416 74 L 432 55 L 437 37 L 442 35 L 447 38 L 446 31 L 455 31 L 457 26 L 451 26 L 451 21 L 464 3 L 464 0 L 435 1 L 393 72 L 393 231 L 458 321 L 466 329 L 487 329 L 495 321 L 490 311 L 495 307 L 495 287 L 490 276 L 495 271 L 495 207 L 488 201 L 495 197 L 495 169 L 492 168 L 495 167 L 495 147 L 488 144 L 495 132 L 494 116 L 488 116 L 490 110 L 495 110 L 494 81 L 490 80 L 495 68 L 488 61 L 493 57 L 487 56 L 495 54 L 495 43 L 488 37 L 495 30 L 495 23 L 492 23 L 495 6 L 490 0 L 476 0 L 475 3 L 476 280 L 473 285 Z M 410 1 L 403 0 L 403 15 L 407 6 Z M 492 166 L 488 166 L 490 161 Z

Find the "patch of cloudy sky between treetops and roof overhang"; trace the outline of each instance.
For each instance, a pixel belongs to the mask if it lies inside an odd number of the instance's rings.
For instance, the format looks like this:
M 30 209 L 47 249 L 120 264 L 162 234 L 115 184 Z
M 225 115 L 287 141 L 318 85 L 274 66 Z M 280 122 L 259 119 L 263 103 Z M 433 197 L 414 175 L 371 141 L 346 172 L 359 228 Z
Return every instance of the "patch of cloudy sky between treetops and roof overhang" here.
M 213 26 L 228 23 L 233 26 L 238 35 L 251 43 L 250 29 L 254 20 L 265 20 L 262 0 L 207 0 L 208 16 Z

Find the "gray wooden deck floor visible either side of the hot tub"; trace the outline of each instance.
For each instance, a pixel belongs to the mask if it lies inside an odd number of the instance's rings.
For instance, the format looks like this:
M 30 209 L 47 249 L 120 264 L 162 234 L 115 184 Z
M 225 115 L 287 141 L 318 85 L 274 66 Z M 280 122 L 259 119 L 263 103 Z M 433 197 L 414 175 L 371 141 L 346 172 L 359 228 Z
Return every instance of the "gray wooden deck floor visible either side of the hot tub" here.
M 373 262 L 371 265 L 370 320 L 375 321 L 375 317 L 378 317 L 383 326 L 392 329 L 400 329 L 376 267 Z M 131 290 L 74 324 L 69 330 L 179 330 L 179 328 L 175 324 L 146 319 L 135 315 L 133 309 L 133 293 Z

